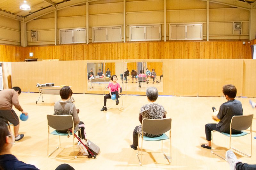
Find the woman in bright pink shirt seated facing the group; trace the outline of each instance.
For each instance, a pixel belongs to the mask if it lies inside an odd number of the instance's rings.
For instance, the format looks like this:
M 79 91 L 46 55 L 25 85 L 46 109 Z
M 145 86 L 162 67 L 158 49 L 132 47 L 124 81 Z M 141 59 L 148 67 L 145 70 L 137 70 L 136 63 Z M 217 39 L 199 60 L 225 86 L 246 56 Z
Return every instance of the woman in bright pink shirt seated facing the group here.
M 106 105 L 107 105 L 107 99 L 110 99 L 112 97 L 113 94 L 116 95 L 116 105 L 119 104 L 119 93 L 120 93 L 120 85 L 119 83 L 117 83 L 117 76 L 113 75 L 111 76 L 111 80 L 112 83 L 108 84 L 108 89 L 109 89 L 109 94 L 104 96 L 104 106 L 102 107 L 102 109 L 100 109 L 100 111 L 104 111 L 104 110 L 108 110 Z

